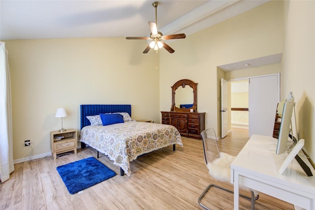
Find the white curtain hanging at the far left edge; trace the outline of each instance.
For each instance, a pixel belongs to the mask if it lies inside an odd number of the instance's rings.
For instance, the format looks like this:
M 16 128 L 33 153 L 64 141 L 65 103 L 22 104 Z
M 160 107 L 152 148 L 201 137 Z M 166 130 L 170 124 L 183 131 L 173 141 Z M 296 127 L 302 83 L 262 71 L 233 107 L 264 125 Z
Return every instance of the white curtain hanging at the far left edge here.
M 5 43 L 0 42 L 0 179 L 4 182 L 14 171 L 11 84 Z

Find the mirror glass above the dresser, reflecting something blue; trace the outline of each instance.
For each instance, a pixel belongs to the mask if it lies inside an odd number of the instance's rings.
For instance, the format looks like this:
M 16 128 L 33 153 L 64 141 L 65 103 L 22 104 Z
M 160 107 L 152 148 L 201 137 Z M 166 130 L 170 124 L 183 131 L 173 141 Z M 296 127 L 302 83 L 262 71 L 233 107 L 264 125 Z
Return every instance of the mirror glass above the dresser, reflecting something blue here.
M 193 89 L 186 85 L 178 87 L 176 90 L 175 105 L 178 108 L 190 108 L 193 106 Z

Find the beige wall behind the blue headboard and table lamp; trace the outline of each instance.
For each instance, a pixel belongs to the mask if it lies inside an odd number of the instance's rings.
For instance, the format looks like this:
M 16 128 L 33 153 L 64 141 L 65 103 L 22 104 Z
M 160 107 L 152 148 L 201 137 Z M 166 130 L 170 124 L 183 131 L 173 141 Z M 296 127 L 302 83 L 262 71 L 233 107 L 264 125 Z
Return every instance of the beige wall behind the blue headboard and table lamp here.
M 49 132 L 65 108 L 65 129 L 80 130 L 81 104 L 131 104 L 134 119 L 158 121 L 158 57 L 146 43 L 121 38 L 6 40 L 12 88 L 13 156 L 50 152 Z M 28 157 L 30 153 L 26 156 Z

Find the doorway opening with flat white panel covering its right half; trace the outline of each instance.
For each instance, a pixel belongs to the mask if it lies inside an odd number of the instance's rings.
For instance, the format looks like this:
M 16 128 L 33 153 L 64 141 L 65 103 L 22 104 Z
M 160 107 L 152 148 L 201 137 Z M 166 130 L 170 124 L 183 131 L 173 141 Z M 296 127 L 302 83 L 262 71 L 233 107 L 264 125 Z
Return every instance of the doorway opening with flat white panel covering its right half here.
M 280 74 L 235 79 L 228 81 L 228 84 L 230 84 L 228 94 L 230 121 L 227 123 L 229 131 L 232 126 L 242 128 L 248 126 L 250 136 L 253 134 L 272 136 L 274 115 L 280 101 Z

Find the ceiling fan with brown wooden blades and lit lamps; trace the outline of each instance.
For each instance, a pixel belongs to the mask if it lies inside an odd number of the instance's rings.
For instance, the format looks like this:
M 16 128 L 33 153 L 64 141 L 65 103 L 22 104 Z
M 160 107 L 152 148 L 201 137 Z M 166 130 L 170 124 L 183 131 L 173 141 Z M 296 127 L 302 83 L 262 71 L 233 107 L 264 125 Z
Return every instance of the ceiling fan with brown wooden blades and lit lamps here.
M 158 1 L 152 3 L 152 5 L 156 8 L 156 22 L 149 21 L 150 26 L 150 37 L 126 37 L 126 39 L 147 39 L 152 40 L 151 43 L 147 46 L 147 48 L 143 51 L 143 53 L 148 53 L 151 48 L 153 50 L 158 50 L 159 48 L 164 47 L 169 53 L 175 52 L 168 44 L 166 44 L 163 40 L 166 39 L 177 39 L 177 38 L 185 38 L 185 34 L 176 34 L 176 35 L 163 35 L 161 32 L 158 32 L 158 15 L 157 15 L 157 7 Z

